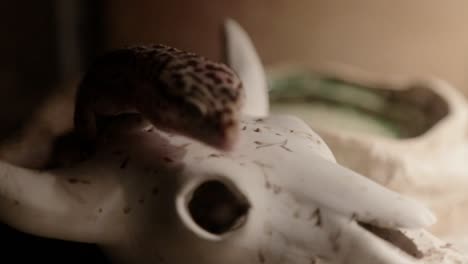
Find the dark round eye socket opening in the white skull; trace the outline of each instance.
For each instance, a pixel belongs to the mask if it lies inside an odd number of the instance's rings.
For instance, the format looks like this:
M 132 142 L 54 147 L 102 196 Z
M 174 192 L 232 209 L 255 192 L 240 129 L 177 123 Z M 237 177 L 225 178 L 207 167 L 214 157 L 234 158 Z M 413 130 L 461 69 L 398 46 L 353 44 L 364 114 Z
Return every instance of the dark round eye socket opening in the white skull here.
M 209 180 L 195 188 L 187 207 L 199 227 L 222 235 L 245 223 L 250 204 L 237 190 L 219 180 Z

